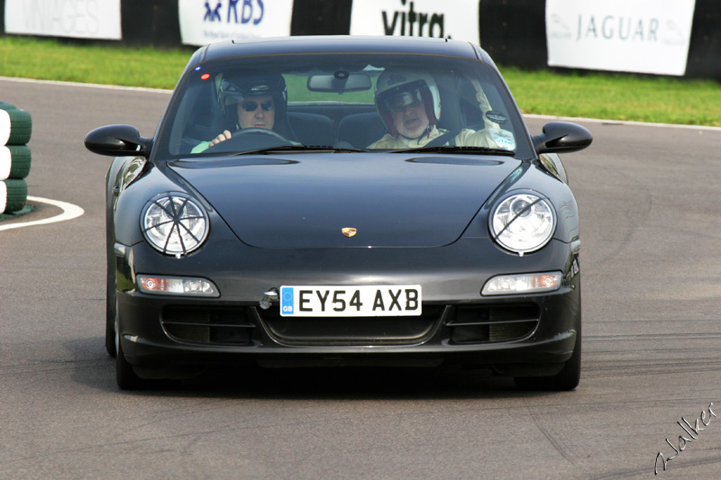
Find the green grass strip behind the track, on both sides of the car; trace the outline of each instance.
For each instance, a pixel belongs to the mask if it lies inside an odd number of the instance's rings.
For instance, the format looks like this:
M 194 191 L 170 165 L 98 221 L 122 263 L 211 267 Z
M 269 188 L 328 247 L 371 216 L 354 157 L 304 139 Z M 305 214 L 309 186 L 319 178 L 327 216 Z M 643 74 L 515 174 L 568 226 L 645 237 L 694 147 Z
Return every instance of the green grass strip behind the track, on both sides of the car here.
M 0 77 L 173 88 L 192 51 L 0 37 Z M 524 113 L 721 127 L 713 80 L 500 69 Z

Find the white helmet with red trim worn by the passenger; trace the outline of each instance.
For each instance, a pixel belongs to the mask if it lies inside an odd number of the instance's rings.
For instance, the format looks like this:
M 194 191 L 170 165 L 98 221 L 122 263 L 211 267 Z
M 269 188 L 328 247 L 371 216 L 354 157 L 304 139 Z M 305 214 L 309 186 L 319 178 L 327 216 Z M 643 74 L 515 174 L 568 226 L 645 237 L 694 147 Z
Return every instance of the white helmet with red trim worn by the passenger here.
M 441 118 L 441 95 L 434 77 L 426 73 L 385 70 L 376 81 L 376 108 L 388 131 L 398 136 L 391 111 L 402 109 L 415 100 L 423 100 L 425 113 L 431 126 Z

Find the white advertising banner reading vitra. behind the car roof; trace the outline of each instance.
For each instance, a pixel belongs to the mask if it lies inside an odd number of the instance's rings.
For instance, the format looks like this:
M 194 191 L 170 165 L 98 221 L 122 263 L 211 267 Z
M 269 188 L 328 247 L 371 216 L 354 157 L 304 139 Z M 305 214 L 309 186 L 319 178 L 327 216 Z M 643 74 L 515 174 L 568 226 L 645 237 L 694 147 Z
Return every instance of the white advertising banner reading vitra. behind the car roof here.
M 355 0 L 351 35 L 452 38 L 478 44 L 479 0 Z

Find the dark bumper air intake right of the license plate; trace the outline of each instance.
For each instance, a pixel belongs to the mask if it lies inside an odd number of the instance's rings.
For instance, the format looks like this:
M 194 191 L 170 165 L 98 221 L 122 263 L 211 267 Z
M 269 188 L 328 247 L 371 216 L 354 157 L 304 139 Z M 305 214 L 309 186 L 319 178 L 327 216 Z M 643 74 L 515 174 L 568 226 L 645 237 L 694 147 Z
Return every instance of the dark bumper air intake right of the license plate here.
M 536 305 L 457 307 L 446 326 L 459 344 L 522 340 L 538 326 Z

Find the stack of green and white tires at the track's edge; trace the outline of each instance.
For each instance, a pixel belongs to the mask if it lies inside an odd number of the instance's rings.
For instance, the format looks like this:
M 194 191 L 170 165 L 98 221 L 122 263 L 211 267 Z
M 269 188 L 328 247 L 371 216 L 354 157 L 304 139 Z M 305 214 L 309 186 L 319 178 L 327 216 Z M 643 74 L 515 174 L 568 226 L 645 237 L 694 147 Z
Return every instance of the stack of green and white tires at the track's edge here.
M 0 214 L 23 210 L 28 200 L 30 113 L 0 102 Z

